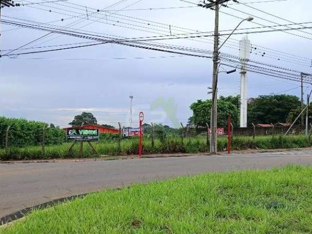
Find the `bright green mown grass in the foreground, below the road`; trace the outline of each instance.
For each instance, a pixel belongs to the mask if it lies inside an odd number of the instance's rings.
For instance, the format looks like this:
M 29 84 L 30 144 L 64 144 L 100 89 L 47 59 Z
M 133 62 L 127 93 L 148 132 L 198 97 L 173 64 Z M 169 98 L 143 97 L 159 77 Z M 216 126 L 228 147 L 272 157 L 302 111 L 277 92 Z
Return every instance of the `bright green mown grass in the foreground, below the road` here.
M 1 234 L 312 233 L 312 167 L 184 176 L 34 211 Z

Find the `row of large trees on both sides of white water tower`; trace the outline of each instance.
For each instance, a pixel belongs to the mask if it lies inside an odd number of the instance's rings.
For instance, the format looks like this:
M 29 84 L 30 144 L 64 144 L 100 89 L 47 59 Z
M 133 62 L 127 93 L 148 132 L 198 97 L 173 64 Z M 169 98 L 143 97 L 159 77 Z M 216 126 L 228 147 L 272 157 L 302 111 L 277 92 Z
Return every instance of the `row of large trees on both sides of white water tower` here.
M 193 116 L 189 118 L 189 123 L 194 125 L 206 125 L 210 123 L 210 111 L 212 100 L 197 100 L 193 102 L 190 109 Z M 217 102 L 218 126 L 226 126 L 227 118 L 232 117 L 233 124 L 239 125 L 239 95 L 220 96 Z M 260 95 L 257 98 L 248 100 L 248 126 L 252 123 L 276 124 L 290 123 L 301 112 L 301 101 L 294 95 Z M 312 116 L 312 108 L 309 108 L 309 116 Z M 300 118 L 297 124 L 300 124 Z

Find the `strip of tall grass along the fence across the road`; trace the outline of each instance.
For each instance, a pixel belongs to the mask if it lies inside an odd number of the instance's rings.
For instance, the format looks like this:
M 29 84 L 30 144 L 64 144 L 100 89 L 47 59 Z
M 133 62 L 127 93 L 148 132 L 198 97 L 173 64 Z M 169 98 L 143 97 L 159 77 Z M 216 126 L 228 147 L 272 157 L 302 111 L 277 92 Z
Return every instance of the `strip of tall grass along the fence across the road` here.
M 93 143 L 97 155 L 94 155 L 87 144 L 84 144 L 83 157 L 94 157 L 101 155 L 136 155 L 138 150 L 138 139 L 121 140 L 120 148 L 117 140 L 103 140 Z M 46 146 L 45 154 L 42 154 L 40 146 L 25 148 L 0 149 L 0 160 L 23 160 L 23 159 L 53 159 L 53 158 L 71 158 L 80 157 L 78 144 L 74 147 L 73 155 L 69 154 L 71 143 L 62 145 Z M 305 136 L 275 136 L 275 137 L 234 137 L 232 141 L 233 150 L 245 149 L 287 149 L 303 148 L 312 146 L 310 137 Z M 227 148 L 226 137 L 218 138 L 218 150 L 224 151 Z M 185 138 L 183 141 L 178 137 L 171 137 L 164 141 L 155 140 L 154 147 L 151 139 L 144 139 L 143 154 L 175 154 L 175 153 L 202 153 L 209 152 L 206 145 L 206 137 Z

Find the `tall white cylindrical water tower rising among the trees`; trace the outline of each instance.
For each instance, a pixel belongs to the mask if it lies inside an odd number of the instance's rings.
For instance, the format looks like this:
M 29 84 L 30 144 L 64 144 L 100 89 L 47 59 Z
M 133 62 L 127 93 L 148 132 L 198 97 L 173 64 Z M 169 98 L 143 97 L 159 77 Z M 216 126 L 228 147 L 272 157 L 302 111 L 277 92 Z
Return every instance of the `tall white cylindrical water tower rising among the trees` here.
M 239 41 L 240 68 L 240 127 L 247 127 L 247 64 L 250 59 L 250 40 L 248 36 Z

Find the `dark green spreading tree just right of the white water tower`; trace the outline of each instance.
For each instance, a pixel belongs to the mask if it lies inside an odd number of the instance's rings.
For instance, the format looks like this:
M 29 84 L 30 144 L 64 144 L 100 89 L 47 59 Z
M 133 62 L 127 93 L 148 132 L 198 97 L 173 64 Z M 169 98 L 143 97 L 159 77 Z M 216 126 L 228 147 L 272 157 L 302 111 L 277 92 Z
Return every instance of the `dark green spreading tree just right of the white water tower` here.
M 300 100 L 293 95 L 260 95 L 248 105 L 248 123 L 284 123 L 298 106 Z

